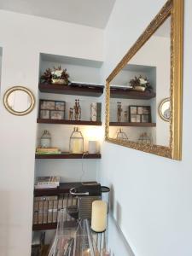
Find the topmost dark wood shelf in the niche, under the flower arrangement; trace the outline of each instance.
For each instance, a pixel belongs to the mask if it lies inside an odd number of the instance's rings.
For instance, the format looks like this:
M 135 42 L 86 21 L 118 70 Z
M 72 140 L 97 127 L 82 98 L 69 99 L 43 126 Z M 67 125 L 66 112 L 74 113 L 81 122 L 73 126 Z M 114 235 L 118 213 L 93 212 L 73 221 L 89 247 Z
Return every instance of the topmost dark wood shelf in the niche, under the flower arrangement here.
M 67 94 L 76 96 L 102 96 L 103 85 L 95 84 L 78 84 L 73 83 L 70 85 L 60 84 L 39 84 L 38 89 L 41 92 L 56 93 L 56 94 Z

